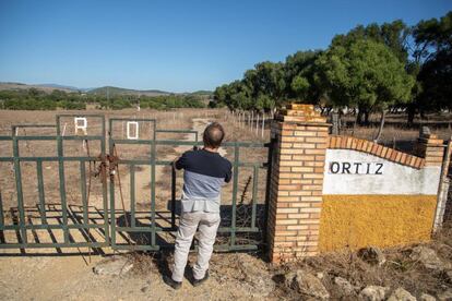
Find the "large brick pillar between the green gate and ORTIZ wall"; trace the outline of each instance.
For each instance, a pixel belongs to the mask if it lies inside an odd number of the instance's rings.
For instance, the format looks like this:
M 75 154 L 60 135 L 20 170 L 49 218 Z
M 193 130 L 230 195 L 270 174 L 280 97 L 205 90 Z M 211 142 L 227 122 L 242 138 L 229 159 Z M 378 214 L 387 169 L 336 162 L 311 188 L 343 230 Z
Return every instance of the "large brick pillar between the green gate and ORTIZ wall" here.
M 318 253 L 328 130 L 312 105 L 288 105 L 275 116 L 267 213 L 272 262 Z

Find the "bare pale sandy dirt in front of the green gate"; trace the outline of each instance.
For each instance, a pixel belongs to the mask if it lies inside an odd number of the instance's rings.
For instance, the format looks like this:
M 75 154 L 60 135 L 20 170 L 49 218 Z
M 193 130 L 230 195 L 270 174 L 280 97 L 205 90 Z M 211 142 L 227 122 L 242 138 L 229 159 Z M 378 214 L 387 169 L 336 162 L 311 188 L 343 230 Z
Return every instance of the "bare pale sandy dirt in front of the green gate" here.
M 234 257 L 215 254 L 213 261 Z M 249 255 L 247 255 L 249 256 Z M 226 258 L 224 258 L 226 257 Z M 259 260 L 249 256 L 257 265 Z M 87 260 L 87 258 L 86 258 Z M 234 275 L 223 275 L 212 267 L 211 279 L 204 286 L 192 287 L 185 280 L 182 289 L 173 290 L 162 280 L 158 268 L 150 264 L 147 273 L 123 277 L 99 276 L 93 267 L 102 260 L 92 256 L 86 264 L 82 256 L 1 257 L 1 300 L 260 300 L 251 286 L 231 281 Z M 237 270 L 237 273 L 239 273 Z M 236 275 L 238 278 L 239 275 Z M 255 297 L 253 297 L 255 296 Z M 275 298 L 273 298 L 276 300 Z

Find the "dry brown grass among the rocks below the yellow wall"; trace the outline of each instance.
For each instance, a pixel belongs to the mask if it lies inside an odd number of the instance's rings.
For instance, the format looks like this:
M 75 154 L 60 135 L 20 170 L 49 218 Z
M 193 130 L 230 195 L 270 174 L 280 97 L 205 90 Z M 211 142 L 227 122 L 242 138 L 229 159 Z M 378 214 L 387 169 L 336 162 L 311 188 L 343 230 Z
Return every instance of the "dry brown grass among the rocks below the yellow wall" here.
M 427 248 L 433 249 L 444 262 L 452 263 L 452 228 L 444 225 Z M 437 294 L 448 288 L 452 282 L 443 272 L 427 269 L 421 263 L 409 258 L 413 248 L 407 245 L 383 250 L 386 262 L 382 265 L 372 265 L 362 261 L 352 250 L 343 250 L 322 254 L 317 257 L 305 257 L 295 262 L 284 263 L 275 267 L 274 279 L 279 281 L 277 294 L 284 298 L 296 298 L 297 293 L 284 286 L 284 274 L 289 270 L 304 269 L 316 275 L 323 273 L 322 282 L 331 293 L 332 299 L 343 298 L 341 289 L 334 284 L 335 277 L 347 279 L 357 292 L 369 285 L 403 287 L 414 296 L 423 292 Z

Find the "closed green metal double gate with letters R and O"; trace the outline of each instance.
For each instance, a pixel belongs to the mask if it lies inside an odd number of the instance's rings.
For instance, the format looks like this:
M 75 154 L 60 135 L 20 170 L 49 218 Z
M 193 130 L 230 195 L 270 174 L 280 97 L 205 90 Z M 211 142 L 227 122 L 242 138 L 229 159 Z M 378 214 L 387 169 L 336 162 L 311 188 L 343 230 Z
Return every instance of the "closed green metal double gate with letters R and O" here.
M 68 130 L 67 125 L 72 124 L 72 120 L 73 129 Z M 91 129 L 86 130 L 87 120 L 97 124 L 93 130 L 95 133 Z M 13 125 L 11 135 L 0 136 L 2 174 L 7 174 L 5 169 L 11 168 L 9 176 L 0 183 L 13 183 L 10 190 L 15 190 L 9 192 L 9 195 L 15 194 L 14 202 L 10 200 L 8 203 L 2 197 L 5 189 L 0 186 L 0 249 L 111 246 L 114 250 L 158 251 L 174 246 L 179 215 L 177 190 L 181 186 L 178 183 L 180 173 L 169 168 L 173 160 L 159 158 L 162 152 L 157 152 L 157 148 L 202 146 L 198 132 L 158 129 L 155 119 L 110 118 L 108 130 L 105 124 L 102 115 L 58 115 L 56 124 Z M 45 128 L 55 131 L 55 134 L 21 135 L 24 129 L 39 131 Z M 147 131 L 144 137 L 139 135 L 139 129 L 142 128 Z M 170 134 L 185 134 L 190 139 L 159 139 L 160 135 Z M 28 148 L 25 150 L 31 150 L 29 145 L 33 143 L 56 144 L 56 154 L 23 154 L 24 143 Z M 5 153 L 9 148 L 5 144 L 11 144 L 12 153 Z M 144 147 L 147 149 L 146 157 L 128 158 L 121 147 Z M 262 161 L 249 161 L 242 160 L 240 154 L 243 149 L 270 149 L 270 144 L 226 142 L 223 147 L 234 152 L 234 176 L 231 191 L 222 200 L 222 225 L 215 248 L 217 251 L 257 250 L 264 243 L 267 195 L 264 190 L 269 173 L 266 162 L 271 155 Z M 71 149 L 75 154 L 67 154 Z M 31 168 L 34 172 L 28 172 Z M 168 190 L 165 185 L 156 185 L 156 171 L 164 168 L 169 169 L 169 177 L 160 172 L 160 178 L 166 183 L 170 182 L 170 200 L 166 210 L 162 209 L 162 202 L 156 198 L 157 192 L 165 190 L 166 193 Z M 239 179 L 245 169 L 250 176 L 243 184 L 239 183 Z M 46 172 L 50 174 L 46 177 Z M 148 176 L 148 188 L 142 200 L 136 200 L 136 174 Z M 264 181 L 261 189 L 260 178 Z M 27 190 L 36 186 L 27 193 L 27 200 L 24 200 L 24 185 Z M 46 195 L 47 186 L 58 190 L 59 197 Z M 124 190 L 128 195 L 124 195 Z M 243 202 L 243 194 L 248 191 L 250 200 Z M 55 198 L 59 198 L 59 202 Z M 245 221 L 240 219 L 241 216 L 246 216 Z

